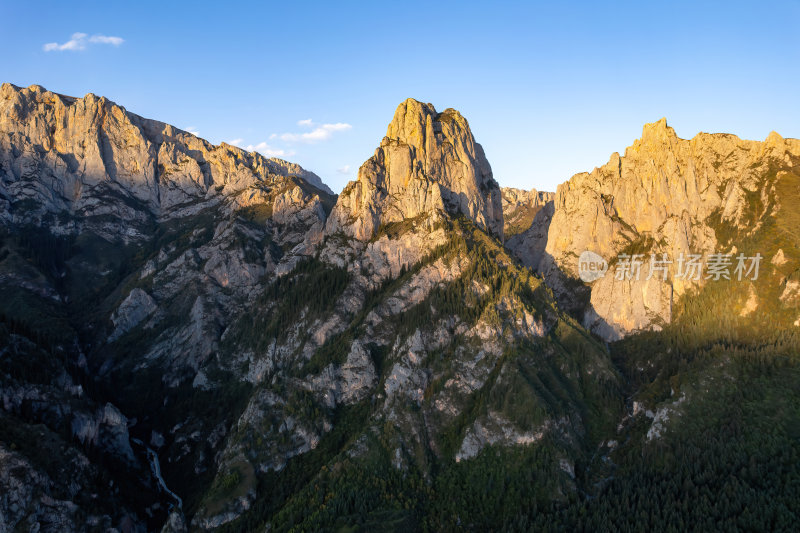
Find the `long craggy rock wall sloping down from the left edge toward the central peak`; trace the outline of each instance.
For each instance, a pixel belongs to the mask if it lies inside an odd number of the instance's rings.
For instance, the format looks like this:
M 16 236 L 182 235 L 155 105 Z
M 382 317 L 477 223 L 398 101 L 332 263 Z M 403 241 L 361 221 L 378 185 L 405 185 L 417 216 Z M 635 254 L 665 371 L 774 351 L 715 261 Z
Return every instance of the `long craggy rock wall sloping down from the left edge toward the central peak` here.
M 297 176 L 332 194 L 296 164 L 214 146 L 104 97 L 73 98 L 37 85 L 0 88 L 0 216 L 6 222 L 39 223 L 68 213 L 96 233 L 136 240 L 152 220 L 186 216 L 270 175 Z M 62 233 L 74 229 L 59 226 L 51 225 Z

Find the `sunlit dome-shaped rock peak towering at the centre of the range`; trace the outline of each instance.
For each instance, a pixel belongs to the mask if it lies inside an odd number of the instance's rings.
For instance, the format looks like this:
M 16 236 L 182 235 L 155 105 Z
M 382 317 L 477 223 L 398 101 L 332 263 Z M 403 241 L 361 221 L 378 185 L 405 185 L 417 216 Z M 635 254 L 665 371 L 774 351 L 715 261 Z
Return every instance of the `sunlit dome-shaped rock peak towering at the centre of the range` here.
M 444 212 L 503 236 L 500 189 L 467 120 L 408 99 L 358 180 L 342 191 L 326 230 L 368 240 L 382 224 Z

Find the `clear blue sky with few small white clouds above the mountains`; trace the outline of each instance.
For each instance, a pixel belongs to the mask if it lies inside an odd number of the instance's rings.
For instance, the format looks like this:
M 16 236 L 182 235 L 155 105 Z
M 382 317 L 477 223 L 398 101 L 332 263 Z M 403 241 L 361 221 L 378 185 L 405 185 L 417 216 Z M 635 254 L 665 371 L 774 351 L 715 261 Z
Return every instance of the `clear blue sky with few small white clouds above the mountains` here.
M 604 164 L 662 116 L 681 137 L 800 137 L 798 1 L 0 7 L 0 80 L 105 95 L 337 192 L 407 97 L 461 111 L 495 178 L 526 189 Z

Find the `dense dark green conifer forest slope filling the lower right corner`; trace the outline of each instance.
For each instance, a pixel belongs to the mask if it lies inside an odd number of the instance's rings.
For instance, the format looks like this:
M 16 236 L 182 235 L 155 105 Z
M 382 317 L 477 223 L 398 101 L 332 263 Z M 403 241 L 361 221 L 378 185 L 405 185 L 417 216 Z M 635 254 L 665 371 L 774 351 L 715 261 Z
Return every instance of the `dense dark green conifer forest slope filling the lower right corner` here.
M 624 341 L 623 341 L 624 342 Z M 670 376 L 685 407 L 646 442 L 649 420 L 611 454 L 613 478 L 595 497 L 557 509 L 549 529 L 790 531 L 800 513 L 800 366 L 723 347 Z M 654 362 L 656 368 L 665 362 Z M 722 363 L 722 364 L 721 364 Z M 635 371 L 637 362 L 629 361 Z M 662 367 L 665 376 L 672 371 Z M 666 367 L 666 368 L 669 368 Z M 668 397 L 661 380 L 647 405 Z M 645 385 L 645 388 L 648 386 Z M 647 392 L 647 391 L 645 391 Z

